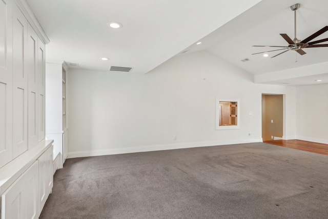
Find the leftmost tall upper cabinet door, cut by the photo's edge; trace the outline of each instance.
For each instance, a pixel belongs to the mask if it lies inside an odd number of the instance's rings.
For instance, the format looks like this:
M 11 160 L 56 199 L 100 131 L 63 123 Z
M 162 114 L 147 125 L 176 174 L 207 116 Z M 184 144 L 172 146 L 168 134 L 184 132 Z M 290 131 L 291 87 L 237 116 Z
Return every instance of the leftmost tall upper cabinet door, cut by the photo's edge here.
M 12 160 L 11 5 L 11 0 L 0 0 L 0 167 Z

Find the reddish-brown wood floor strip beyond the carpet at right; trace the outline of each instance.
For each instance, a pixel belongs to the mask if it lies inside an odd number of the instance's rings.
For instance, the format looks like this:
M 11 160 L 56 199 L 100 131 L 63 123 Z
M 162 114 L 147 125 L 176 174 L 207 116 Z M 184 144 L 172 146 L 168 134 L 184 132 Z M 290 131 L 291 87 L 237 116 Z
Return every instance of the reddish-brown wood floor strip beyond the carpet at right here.
M 272 140 L 264 141 L 264 143 L 328 155 L 328 145 L 321 143 L 306 142 L 301 140 Z

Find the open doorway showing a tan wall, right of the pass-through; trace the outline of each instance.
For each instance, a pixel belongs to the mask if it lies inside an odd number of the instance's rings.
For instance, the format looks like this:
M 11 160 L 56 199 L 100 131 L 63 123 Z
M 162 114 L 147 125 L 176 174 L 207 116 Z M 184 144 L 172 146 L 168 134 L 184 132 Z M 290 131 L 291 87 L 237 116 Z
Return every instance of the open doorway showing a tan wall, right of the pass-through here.
M 262 94 L 262 140 L 278 140 L 283 135 L 283 95 Z

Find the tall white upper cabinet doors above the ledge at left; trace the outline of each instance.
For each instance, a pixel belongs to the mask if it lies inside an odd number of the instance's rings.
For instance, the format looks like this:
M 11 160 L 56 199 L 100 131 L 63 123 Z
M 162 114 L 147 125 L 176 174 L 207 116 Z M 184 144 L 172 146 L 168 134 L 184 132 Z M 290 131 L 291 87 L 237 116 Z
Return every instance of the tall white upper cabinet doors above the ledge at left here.
M 0 0 L 0 168 L 45 140 L 45 44 L 20 9 Z

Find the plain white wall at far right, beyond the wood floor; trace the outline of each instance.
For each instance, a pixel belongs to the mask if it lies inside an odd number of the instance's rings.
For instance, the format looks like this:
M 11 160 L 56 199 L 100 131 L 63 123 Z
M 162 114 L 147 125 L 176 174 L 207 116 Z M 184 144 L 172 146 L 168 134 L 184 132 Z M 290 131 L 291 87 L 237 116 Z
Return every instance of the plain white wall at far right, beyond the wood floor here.
M 328 84 L 297 87 L 297 138 L 328 144 Z

